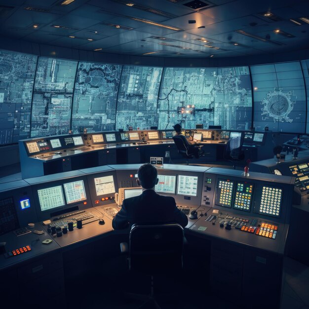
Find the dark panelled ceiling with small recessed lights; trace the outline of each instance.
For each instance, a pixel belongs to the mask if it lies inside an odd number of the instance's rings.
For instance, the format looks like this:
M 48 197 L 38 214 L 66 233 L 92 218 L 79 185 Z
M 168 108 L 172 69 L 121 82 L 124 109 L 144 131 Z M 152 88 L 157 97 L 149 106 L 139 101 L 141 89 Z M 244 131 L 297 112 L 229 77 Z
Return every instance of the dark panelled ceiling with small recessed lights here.
M 235 57 L 309 48 L 308 0 L 62 2 L 0 0 L 1 35 L 153 57 Z

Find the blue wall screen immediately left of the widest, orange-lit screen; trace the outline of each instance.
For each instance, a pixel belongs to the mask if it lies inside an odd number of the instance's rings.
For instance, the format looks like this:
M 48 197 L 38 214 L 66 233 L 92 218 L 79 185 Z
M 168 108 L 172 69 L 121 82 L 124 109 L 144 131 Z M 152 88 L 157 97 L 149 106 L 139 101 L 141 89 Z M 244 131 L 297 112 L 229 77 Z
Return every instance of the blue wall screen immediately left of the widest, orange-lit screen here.
M 118 93 L 116 129 L 157 126 L 157 98 L 163 68 L 123 66 Z

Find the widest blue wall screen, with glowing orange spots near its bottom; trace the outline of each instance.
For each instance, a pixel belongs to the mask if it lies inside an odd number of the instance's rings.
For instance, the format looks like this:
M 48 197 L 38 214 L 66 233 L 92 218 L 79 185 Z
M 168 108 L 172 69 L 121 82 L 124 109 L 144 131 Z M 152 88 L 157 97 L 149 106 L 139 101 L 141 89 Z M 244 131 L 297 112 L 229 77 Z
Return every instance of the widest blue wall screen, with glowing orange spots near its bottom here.
M 159 129 L 196 123 L 249 129 L 252 93 L 248 67 L 165 68 L 159 98 Z

